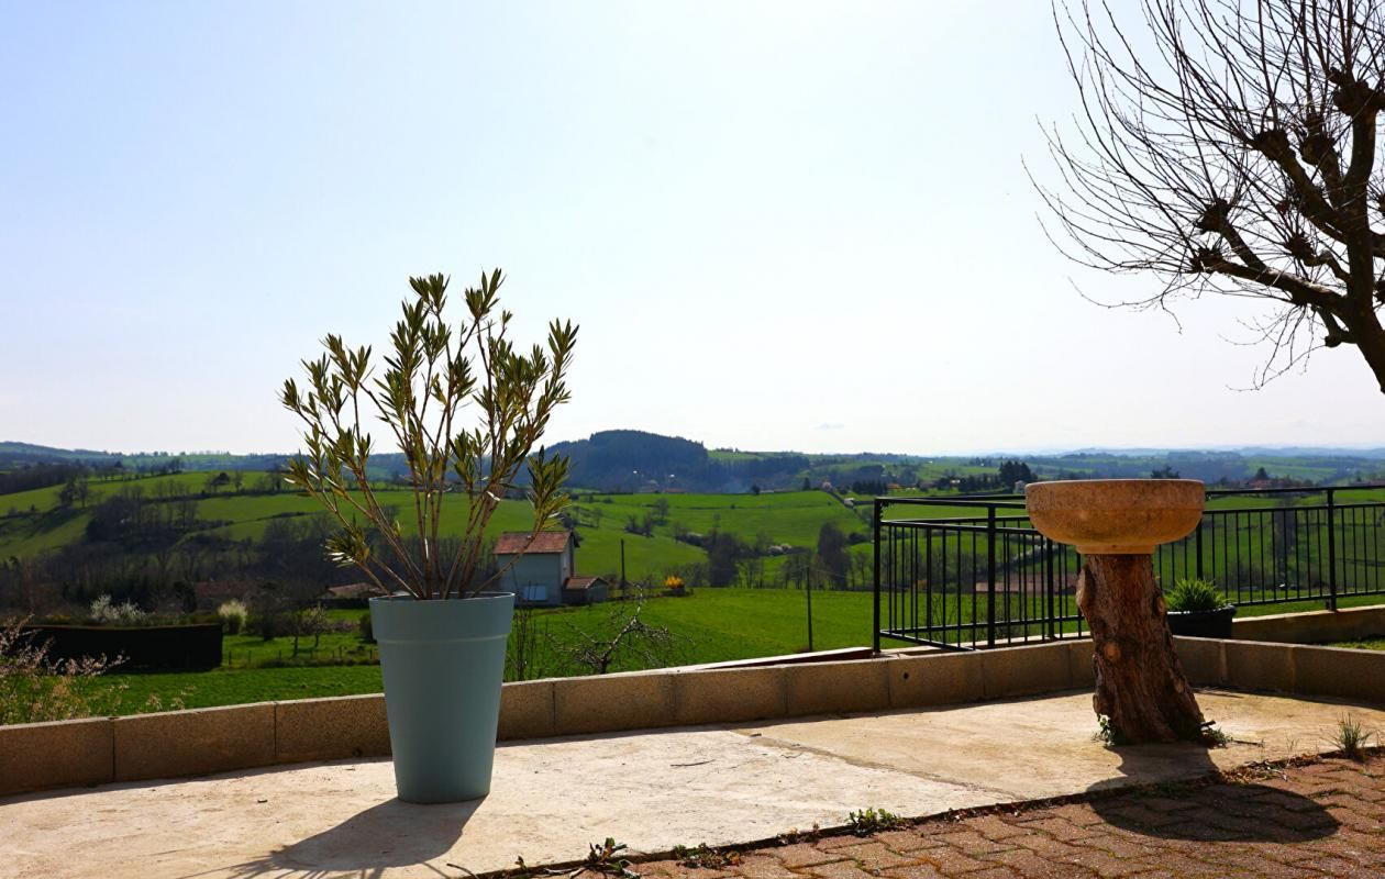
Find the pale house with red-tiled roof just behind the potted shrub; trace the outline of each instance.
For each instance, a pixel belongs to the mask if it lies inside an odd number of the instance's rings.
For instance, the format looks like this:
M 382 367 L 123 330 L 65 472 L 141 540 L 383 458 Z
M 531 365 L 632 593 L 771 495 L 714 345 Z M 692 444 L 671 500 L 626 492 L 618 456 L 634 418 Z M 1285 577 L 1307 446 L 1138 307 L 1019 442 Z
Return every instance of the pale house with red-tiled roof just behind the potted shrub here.
M 504 570 L 500 588 L 514 592 L 518 605 L 596 604 L 609 597 L 605 580 L 576 576 L 572 532 L 540 532 L 533 543 L 528 533 L 507 532 L 496 541 L 496 566 Z

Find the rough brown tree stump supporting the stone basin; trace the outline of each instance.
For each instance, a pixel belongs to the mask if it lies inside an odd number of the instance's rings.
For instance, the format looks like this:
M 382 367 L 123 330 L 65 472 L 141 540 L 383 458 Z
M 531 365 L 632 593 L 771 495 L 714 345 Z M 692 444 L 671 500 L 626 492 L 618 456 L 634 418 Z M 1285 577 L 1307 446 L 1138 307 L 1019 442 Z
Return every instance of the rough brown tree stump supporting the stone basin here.
M 1173 652 L 1154 559 L 1089 555 L 1084 562 L 1078 606 L 1096 646 L 1093 709 L 1123 742 L 1202 741 L 1202 712 Z

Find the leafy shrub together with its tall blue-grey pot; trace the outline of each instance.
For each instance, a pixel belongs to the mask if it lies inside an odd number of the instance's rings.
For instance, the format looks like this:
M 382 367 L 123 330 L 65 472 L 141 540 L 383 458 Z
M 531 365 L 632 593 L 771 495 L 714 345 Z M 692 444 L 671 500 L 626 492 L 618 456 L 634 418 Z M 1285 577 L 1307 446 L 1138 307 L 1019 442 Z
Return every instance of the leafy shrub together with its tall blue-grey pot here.
M 328 335 L 325 353 L 303 361 L 306 385 L 288 379 L 280 395 L 303 424 L 306 448 L 289 462 L 288 482 L 335 519 L 328 556 L 360 568 L 384 592 L 370 601 L 370 619 L 395 782 L 411 803 L 490 790 L 514 595 L 496 588 L 506 569 L 490 569 L 486 525 L 501 498 L 521 491 L 521 469 L 533 504 L 530 543 L 568 500 L 568 461 L 546 455 L 539 440 L 569 399 L 578 328 L 553 321 L 546 347 L 517 349 L 512 316 L 497 305 L 501 281 L 496 270 L 468 288 L 453 325 L 449 280 L 409 278 L 413 298 L 379 374 L 370 347 Z M 371 483 L 370 414 L 403 453 L 407 525 Z M 445 522 L 460 523 L 445 533 Z

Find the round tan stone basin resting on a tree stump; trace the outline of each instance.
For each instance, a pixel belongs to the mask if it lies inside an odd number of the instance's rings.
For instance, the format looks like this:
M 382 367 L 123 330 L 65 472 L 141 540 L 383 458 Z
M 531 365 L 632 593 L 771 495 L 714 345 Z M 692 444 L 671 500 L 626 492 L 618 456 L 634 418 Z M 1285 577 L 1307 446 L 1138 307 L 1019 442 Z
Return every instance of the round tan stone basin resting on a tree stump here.
M 1029 520 L 1083 555 L 1148 555 L 1181 540 L 1202 518 L 1197 479 L 1076 479 L 1025 486 Z

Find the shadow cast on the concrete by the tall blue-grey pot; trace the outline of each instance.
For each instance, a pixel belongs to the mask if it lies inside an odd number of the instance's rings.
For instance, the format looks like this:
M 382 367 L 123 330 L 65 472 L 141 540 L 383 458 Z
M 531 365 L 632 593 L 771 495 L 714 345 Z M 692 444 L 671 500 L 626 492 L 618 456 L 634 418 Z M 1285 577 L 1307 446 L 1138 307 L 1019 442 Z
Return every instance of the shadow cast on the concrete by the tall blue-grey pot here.
M 269 857 L 238 864 L 226 875 L 312 879 L 350 873 L 373 879 L 386 869 L 417 867 L 442 857 L 485 800 L 417 806 L 388 800 L 337 826 L 284 846 Z M 439 876 L 453 875 L 436 868 Z

